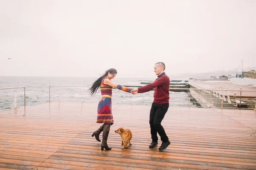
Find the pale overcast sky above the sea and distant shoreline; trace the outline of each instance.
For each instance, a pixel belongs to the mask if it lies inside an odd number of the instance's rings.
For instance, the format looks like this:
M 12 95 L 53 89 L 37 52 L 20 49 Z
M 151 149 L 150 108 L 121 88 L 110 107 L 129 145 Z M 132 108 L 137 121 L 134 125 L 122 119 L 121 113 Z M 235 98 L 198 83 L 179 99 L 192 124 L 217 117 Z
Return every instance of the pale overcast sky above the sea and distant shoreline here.
M 9 59 L 8 58 L 12 58 Z M 256 0 L 0 0 L 0 76 L 256 67 Z

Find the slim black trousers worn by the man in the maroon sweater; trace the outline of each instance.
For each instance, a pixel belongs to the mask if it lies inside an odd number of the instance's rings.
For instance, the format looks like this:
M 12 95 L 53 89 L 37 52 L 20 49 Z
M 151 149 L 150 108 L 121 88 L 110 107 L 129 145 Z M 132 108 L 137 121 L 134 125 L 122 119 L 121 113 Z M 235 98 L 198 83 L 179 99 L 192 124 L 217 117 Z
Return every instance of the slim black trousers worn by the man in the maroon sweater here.
M 169 140 L 168 136 L 166 135 L 161 122 L 168 111 L 169 103 L 164 104 L 157 104 L 152 103 L 150 116 L 149 116 L 149 124 L 150 124 L 150 131 L 151 131 L 151 139 L 154 142 L 157 142 L 158 137 L 157 133 L 161 137 L 161 141 L 166 142 Z

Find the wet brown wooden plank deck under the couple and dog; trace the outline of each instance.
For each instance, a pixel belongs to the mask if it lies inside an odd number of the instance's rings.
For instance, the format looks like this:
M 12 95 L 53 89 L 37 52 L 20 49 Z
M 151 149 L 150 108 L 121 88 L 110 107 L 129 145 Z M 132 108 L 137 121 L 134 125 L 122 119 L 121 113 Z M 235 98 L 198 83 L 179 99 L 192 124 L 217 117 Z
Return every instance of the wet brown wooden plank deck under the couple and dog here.
M 113 105 L 115 123 L 101 151 L 91 134 L 97 104 L 58 102 L 0 112 L 0 170 L 256 170 L 256 113 L 170 107 L 162 122 L 171 141 L 150 149 L 150 106 Z M 119 127 L 131 129 L 121 149 Z

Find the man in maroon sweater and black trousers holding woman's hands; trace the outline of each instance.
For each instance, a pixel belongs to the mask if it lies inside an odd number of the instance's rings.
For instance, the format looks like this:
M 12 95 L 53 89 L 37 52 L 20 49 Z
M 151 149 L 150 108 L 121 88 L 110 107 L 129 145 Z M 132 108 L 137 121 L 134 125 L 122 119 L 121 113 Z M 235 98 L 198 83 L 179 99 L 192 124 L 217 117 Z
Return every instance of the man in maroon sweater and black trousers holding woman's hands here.
M 131 92 L 136 93 L 145 93 L 154 89 L 154 102 L 152 103 L 149 124 L 151 131 L 152 142 L 149 145 L 150 148 L 154 148 L 158 142 L 157 133 L 161 137 L 162 144 L 159 147 L 159 150 L 165 150 L 171 142 L 169 141 L 168 136 L 166 135 L 161 122 L 169 108 L 169 88 L 170 88 L 170 79 L 165 74 L 165 64 L 163 62 L 157 62 L 154 66 L 154 72 L 157 75 L 157 79 L 151 84 L 145 85 L 140 88 L 134 88 Z

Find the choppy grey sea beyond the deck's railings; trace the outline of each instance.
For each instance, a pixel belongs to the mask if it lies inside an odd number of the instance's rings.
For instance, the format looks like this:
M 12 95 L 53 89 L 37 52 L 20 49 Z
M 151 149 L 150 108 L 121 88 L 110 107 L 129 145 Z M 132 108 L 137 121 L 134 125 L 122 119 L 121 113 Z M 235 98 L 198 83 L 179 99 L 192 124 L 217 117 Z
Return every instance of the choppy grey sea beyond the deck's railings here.
M 0 110 L 13 108 L 14 105 L 24 106 L 24 89 L 1 89 L 25 87 L 26 106 L 40 105 L 54 101 L 94 102 L 101 98 L 98 90 L 90 96 L 89 88 L 95 77 L 0 77 Z M 141 82 L 154 81 L 154 78 L 119 78 L 112 81 L 120 85 L 143 86 Z M 151 105 L 154 91 L 143 94 L 130 94 L 113 89 L 112 103 Z M 170 106 L 189 106 L 189 94 L 170 91 Z

